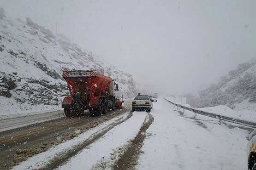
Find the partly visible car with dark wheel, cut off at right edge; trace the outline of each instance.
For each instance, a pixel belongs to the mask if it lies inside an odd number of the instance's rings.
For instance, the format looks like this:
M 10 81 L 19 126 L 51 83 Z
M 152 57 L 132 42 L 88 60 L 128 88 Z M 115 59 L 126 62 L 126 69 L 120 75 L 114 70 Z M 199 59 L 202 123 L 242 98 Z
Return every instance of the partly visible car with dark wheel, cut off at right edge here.
M 248 170 L 256 170 L 256 130 L 250 134 L 249 140 L 246 148 Z

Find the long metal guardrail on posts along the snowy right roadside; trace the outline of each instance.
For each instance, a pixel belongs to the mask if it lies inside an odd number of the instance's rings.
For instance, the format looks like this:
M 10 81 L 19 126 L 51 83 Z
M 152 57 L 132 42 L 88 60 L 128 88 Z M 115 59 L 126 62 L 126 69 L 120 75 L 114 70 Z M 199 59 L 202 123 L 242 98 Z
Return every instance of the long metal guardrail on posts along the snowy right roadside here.
M 171 101 L 167 100 L 166 98 L 164 98 L 164 99 L 167 102 L 172 103 L 174 106 L 177 106 L 179 108 L 183 108 L 185 110 L 188 110 L 188 111 L 191 111 L 191 112 L 195 113 L 195 118 L 196 118 L 196 114 L 198 113 L 198 114 L 208 116 L 208 117 L 211 117 L 211 118 L 219 119 L 220 124 L 221 124 L 221 121 L 227 121 L 227 122 L 231 122 L 231 123 L 238 124 L 238 125 L 244 125 L 244 126 L 248 126 L 248 127 L 251 127 L 251 128 L 256 128 L 256 123 L 255 122 L 249 122 L 247 120 L 241 120 L 241 119 L 237 119 L 237 118 L 231 118 L 231 117 L 228 117 L 228 116 L 223 116 L 221 114 L 205 112 L 205 111 L 202 111 L 202 110 L 199 110 L 199 109 L 196 109 L 196 108 L 190 108 L 190 107 L 183 106 L 181 104 L 171 102 Z

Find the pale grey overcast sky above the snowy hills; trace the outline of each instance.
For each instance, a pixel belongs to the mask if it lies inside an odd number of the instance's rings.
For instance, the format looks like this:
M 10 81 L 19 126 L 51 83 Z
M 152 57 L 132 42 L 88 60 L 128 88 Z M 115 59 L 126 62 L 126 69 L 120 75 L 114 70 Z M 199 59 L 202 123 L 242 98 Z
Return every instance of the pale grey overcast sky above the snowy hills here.
M 256 57 L 256 0 L 0 0 L 158 91 L 183 93 Z

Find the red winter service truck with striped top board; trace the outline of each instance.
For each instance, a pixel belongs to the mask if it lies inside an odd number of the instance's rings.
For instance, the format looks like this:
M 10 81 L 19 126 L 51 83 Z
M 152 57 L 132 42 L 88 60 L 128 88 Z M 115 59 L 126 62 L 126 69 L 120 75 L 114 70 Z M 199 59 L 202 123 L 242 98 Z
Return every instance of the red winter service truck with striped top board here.
M 62 102 L 67 117 L 83 114 L 89 109 L 91 115 L 102 115 L 108 109 L 121 108 L 124 101 L 116 97 L 118 85 L 111 77 L 92 70 L 63 71 L 70 96 Z

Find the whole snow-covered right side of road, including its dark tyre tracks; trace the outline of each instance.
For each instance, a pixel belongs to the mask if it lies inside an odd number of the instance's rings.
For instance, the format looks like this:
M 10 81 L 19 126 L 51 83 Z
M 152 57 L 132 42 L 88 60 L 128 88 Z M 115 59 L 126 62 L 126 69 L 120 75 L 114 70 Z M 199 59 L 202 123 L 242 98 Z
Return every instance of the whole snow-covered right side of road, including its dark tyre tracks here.
M 121 114 L 14 169 L 246 170 L 248 131 L 198 118 L 159 99 L 150 114 Z

